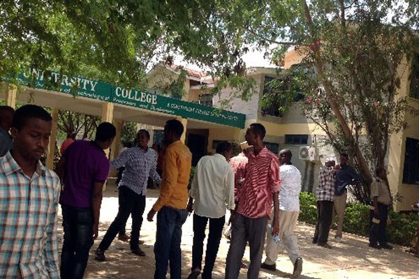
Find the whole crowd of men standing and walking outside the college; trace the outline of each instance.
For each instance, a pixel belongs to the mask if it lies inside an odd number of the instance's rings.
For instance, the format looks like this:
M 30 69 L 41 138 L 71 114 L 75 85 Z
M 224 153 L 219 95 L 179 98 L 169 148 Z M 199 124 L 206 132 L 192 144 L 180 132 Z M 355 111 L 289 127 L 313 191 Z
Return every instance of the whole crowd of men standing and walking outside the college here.
M 258 278 L 260 268 L 276 270 L 280 243 L 293 264 L 291 278 L 302 273 L 302 255 L 294 234 L 300 213 L 301 174 L 291 163 L 293 154 L 289 149 L 281 150 L 279 156 L 267 149 L 263 144 L 265 127 L 260 123 L 247 128 L 239 155 L 232 158 L 233 145 L 220 142 L 214 155 L 200 158 L 190 189 L 192 154 L 180 140 L 184 133 L 180 121 L 166 122 L 164 159 L 161 156 L 160 161 L 159 153 L 149 148 L 147 130 L 139 130 L 134 146 L 109 161 L 104 150 L 111 146 L 116 129 L 112 123 L 103 122 L 92 141 L 68 137 L 55 172 L 40 162 L 51 129 L 52 118 L 42 107 L 24 105 L 16 111 L 0 107 L 0 274 L 4 278 L 83 278 L 89 250 L 98 237 L 103 185 L 110 169 L 120 171 L 119 209 L 95 250 L 96 260 L 106 260 L 105 252 L 117 235 L 124 241 L 129 239 L 134 255 L 146 256 L 140 248 L 140 229 L 147 181 L 151 178 L 160 190 L 147 213 L 149 222 L 156 216 L 154 278 L 166 278 L 169 266 L 170 278 L 181 278 L 182 225 L 190 214 L 193 247 L 188 279 L 212 278 L 227 210 L 227 279 L 238 278 L 240 269 L 246 266 L 242 259 L 247 245 L 248 278 Z M 328 236 L 334 216 L 338 219 L 335 241 L 341 241 L 347 187 L 361 181 L 348 165 L 347 154 L 341 154 L 339 161 L 336 165 L 334 158 L 328 158 L 318 177 L 318 223 L 313 243 L 324 248 L 332 248 Z M 383 168 L 376 169 L 371 198 L 369 246 L 392 249 L 385 238 L 392 199 Z M 64 227 L 61 262 L 57 239 L 59 204 Z M 130 215 L 129 237 L 125 226 Z M 418 255 L 417 241 L 412 249 Z

